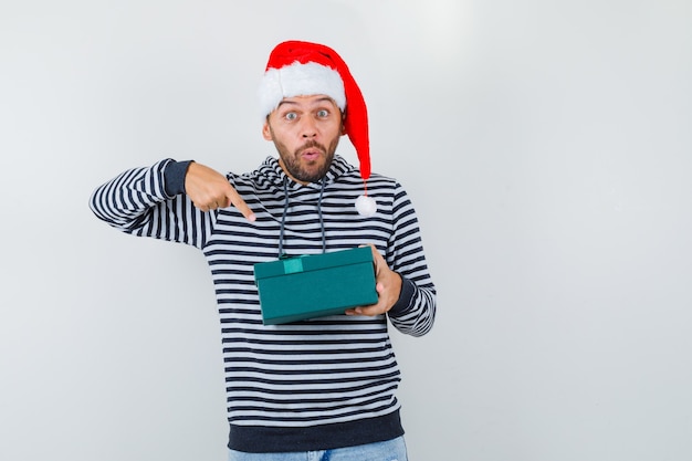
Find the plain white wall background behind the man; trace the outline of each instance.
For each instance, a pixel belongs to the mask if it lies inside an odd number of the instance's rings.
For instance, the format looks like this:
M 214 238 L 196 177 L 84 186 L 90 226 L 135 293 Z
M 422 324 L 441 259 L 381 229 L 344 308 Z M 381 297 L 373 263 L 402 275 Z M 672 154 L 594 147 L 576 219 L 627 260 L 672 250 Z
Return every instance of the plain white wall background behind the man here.
M 411 460 L 692 459 L 691 24 L 689 0 L 3 0 L 0 459 L 226 459 L 201 253 L 87 201 L 162 157 L 256 167 L 286 39 L 348 62 L 418 210 Z

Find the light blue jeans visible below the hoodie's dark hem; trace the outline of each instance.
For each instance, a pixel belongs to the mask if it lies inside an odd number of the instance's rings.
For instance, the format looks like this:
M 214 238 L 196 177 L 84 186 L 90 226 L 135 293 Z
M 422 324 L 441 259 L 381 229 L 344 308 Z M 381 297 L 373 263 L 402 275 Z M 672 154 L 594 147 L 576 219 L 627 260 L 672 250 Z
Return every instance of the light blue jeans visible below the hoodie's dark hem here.
M 245 453 L 230 450 L 229 461 L 407 461 L 403 437 L 385 442 L 323 451 Z

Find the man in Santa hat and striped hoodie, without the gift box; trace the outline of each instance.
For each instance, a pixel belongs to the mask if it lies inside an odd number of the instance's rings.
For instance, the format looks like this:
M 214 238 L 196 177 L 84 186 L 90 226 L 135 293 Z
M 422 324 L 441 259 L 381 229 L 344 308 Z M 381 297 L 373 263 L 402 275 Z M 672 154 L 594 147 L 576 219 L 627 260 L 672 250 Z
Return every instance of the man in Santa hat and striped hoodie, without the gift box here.
M 164 159 L 98 187 L 94 213 L 125 232 L 199 248 L 221 321 L 230 460 L 406 460 L 388 318 L 430 331 L 436 290 L 415 210 L 394 179 L 370 177 L 367 111 L 327 46 L 284 42 L 260 85 L 262 135 L 279 158 L 221 175 Z M 360 168 L 335 155 L 348 135 Z M 370 245 L 378 301 L 265 325 L 253 268 L 281 255 Z

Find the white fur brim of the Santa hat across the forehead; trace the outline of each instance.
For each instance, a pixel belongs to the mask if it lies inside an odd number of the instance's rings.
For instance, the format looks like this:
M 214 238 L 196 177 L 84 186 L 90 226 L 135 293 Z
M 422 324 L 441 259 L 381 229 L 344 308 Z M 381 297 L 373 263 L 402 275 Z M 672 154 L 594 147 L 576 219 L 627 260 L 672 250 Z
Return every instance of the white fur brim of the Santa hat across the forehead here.
M 284 97 L 324 94 L 334 99 L 336 105 L 346 108 L 344 82 L 334 69 L 308 62 L 294 62 L 281 69 L 268 69 L 260 83 L 258 96 L 262 116 L 274 111 Z

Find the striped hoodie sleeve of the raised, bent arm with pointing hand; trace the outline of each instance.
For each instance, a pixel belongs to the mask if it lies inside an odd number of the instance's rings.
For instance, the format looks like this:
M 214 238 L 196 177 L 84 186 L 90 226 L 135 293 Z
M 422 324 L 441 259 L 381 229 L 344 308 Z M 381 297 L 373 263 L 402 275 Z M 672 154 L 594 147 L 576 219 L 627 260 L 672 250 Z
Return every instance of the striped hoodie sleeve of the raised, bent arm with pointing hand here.
M 123 171 L 94 190 L 90 208 L 123 232 L 201 248 L 214 214 L 198 210 L 185 195 L 190 163 L 167 158 Z

